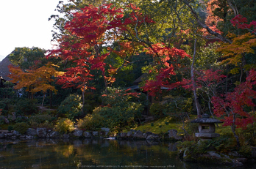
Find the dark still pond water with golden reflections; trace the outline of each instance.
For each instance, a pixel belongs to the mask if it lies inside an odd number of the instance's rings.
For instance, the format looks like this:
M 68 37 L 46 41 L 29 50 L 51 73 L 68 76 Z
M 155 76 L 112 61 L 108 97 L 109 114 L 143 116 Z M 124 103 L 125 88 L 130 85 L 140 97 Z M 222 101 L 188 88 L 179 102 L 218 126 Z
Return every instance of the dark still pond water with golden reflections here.
M 230 167 L 182 162 L 176 143 L 85 139 L 0 143 L 0 168 Z

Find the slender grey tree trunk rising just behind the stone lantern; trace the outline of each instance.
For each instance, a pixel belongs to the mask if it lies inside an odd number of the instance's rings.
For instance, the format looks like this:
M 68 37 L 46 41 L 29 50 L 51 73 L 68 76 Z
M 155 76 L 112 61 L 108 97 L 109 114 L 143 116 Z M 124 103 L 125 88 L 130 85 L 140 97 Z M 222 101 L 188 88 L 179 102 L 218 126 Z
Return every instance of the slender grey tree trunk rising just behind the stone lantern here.
M 193 61 L 191 64 L 191 80 L 192 80 L 192 84 L 193 84 L 193 97 L 194 97 L 194 100 L 196 103 L 197 116 L 201 116 L 200 105 L 199 105 L 199 101 L 196 96 L 196 81 L 195 81 L 195 76 L 193 75 L 193 64 L 195 63 L 195 56 L 196 56 L 196 39 L 195 39 L 195 42 L 193 45 Z

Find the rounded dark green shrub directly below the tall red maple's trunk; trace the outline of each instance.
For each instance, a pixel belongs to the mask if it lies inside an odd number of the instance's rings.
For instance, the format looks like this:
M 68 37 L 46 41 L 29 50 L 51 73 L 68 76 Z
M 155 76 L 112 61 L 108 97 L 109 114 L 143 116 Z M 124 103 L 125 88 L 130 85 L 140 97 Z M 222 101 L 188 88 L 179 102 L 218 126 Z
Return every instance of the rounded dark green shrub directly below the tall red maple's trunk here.
M 70 94 L 61 102 L 57 114 L 61 117 L 74 119 L 81 115 L 82 102 L 78 94 Z

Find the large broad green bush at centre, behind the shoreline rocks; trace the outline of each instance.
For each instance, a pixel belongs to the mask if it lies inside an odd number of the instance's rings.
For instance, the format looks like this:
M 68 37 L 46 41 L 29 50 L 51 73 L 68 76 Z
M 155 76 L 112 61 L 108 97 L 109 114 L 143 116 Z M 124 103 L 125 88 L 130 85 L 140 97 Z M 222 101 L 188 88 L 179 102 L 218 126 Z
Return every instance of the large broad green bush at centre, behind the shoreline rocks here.
M 141 99 L 140 102 L 138 99 Z M 102 100 L 107 106 L 96 111 L 99 111 L 99 115 L 105 119 L 107 127 L 121 130 L 126 125 L 134 124 L 136 117 L 141 116 L 145 99 L 143 94 L 107 88 L 107 94 L 102 95 Z

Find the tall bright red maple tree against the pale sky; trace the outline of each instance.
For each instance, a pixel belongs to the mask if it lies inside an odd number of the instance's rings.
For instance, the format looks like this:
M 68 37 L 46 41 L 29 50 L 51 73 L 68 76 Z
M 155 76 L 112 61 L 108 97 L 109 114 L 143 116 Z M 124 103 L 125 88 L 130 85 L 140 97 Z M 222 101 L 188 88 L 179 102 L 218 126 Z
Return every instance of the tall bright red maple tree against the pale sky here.
M 113 75 L 118 68 L 106 65 L 104 61 L 110 52 L 103 52 L 103 46 L 110 43 L 111 40 L 118 40 L 118 37 L 125 31 L 131 32 L 129 25 L 138 25 L 145 20 L 149 23 L 152 22 L 149 18 L 142 18 L 138 8 L 133 5 L 131 7 L 133 12 L 128 18 L 124 18 L 123 9 L 116 9 L 112 7 L 112 4 L 103 4 L 100 7 L 90 5 L 81 9 L 81 12 L 74 12 L 72 14 L 74 19 L 66 23 L 64 27 L 68 34 L 60 39 L 59 48 L 51 50 L 49 53 L 48 56 L 57 56 L 72 62 L 73 65 L 65 69 L 65 74 L 59 77 L 57 83 L 63 84 L 63 88 L 77 87 L 77 89 L 81 89 L 83 102 L 85 102 L 85 90 L 95 89 L 88 85 L 88 82 L 93 80 L 91 70 L 102 72 L 105 89 L 115 81 Z M 141 18 L 139 22 L 138 18 Z M 120 42 L 119 44 L 124 45 L 125 48 L 130 43 Z M 122 50 L 118 54 L 121 57 L 124 56 Z M 124 64 L 127 63 L 127 58 L 129 57 L 124 59 Z M 106 67 L 110 69 L 107 71 Z

